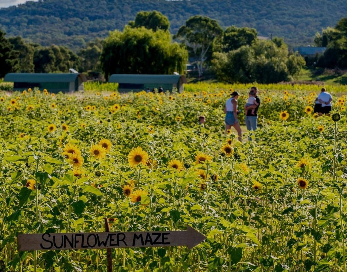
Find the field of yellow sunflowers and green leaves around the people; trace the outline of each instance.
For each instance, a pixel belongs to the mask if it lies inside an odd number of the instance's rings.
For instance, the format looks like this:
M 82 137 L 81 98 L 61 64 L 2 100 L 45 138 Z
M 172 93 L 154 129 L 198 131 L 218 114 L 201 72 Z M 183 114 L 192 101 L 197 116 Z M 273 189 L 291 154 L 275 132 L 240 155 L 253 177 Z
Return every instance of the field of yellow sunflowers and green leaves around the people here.
M 187 247 L 112 249 L 113 271 L 343 271 L 346 91 L 259 85 L 259 128 L 225 133 L 251 85 L 0 95 L 0 271 L 107 271 L 105 249 L 18 251 L 18 233 L 185 230 Z M 199 125 L 198 117 L 206 122 Z

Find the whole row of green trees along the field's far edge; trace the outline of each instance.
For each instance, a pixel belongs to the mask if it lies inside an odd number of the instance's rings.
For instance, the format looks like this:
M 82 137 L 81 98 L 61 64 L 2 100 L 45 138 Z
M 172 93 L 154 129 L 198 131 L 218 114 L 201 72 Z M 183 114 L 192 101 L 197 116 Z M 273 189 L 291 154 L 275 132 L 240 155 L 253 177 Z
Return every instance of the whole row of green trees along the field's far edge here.
M 315 40 L 327 43 L 324 58 L 331 58 L 334 52 L 337 64 L 346 59 L 342 54 L 347 33 L 344 22 L 324 30 Z M 205 16 L 189 18 L 173 37 L 169 28 L 168 18 L 160 12 L 141 11 L 122 32 L 110 32 L 105 40 L 96 39 L 77 53 L 63 46 L 25 43 L 20 37 L 6 39 L 1 33 L 0 52 L 7 53 L 0 54 L 6 60 L 0 76 L 9 70 L 66 72 L 71 67 L 90 74 L 102 72 L 106 79 L 113 73 L 183 73 L 189 53 L 199 76 L 210 67 L 227 82 L 271 83 L 290 80 L 305 63 L 301 56 L 288 52 L 283 39 L 259 40 L 254 28 L 230 26 L 223 30 L 216 20 Z

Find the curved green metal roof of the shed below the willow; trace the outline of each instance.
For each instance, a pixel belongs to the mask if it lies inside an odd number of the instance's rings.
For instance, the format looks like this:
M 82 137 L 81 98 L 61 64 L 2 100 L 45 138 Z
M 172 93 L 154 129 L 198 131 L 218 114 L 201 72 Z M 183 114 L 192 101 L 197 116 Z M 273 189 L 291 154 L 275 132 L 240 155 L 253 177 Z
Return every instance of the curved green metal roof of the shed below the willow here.
M 109 82 L 134 83 L 134 84 L 176 84 L 182 78 L 183 83 L 187 83 L 186 77 L 181 75 L 137 75 L 137 74 L 113 74 Z

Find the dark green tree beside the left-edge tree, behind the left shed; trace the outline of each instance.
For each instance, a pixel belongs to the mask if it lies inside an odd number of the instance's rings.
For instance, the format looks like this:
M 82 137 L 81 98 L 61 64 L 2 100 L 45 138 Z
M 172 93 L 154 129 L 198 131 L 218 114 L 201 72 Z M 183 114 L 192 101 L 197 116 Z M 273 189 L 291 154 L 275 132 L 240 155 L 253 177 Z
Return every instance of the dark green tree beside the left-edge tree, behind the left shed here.
M 26 43 L 22 37 L 10 37 L 9 42 L 14 46 L 19 58 L 19 64 L 16 72 L 33 73 L 34 72 L 34 47 Z

